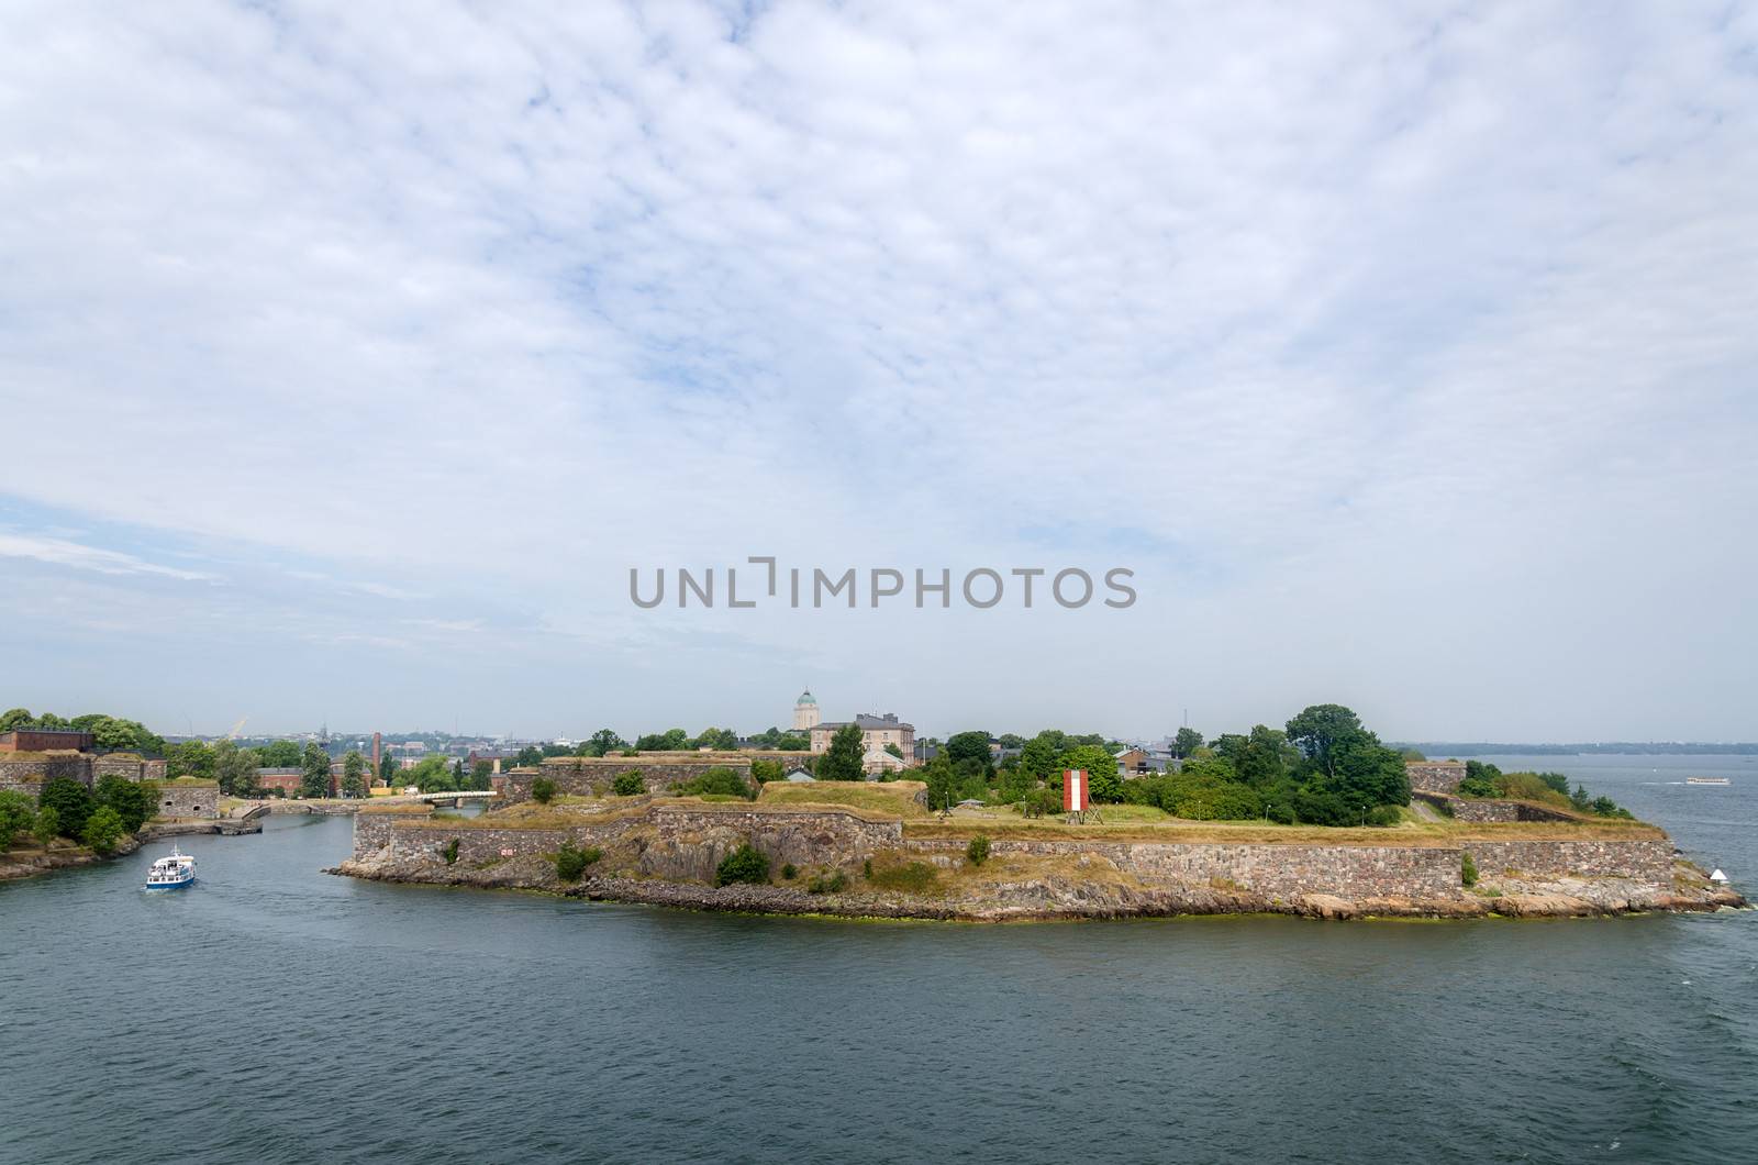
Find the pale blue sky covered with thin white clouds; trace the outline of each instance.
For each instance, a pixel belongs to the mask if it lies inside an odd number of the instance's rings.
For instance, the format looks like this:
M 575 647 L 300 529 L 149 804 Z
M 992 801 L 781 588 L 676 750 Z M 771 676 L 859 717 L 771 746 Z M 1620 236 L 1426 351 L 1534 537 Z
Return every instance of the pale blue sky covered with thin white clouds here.
M 26 0 L 0 707 L 1758 739 L 1754 190 L 1744 4 Z

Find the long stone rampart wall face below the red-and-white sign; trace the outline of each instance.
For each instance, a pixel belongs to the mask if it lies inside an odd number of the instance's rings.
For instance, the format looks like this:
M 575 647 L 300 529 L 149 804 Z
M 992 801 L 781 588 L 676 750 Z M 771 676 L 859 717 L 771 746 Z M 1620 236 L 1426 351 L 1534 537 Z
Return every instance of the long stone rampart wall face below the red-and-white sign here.
M 907 848 L 963 854 L 963 841 L 919 839 Z M 1450 898 L 1459 894 L 1461 854 L 1445 846 L 1208 845 L 1164 841 L 990 841 L 990 854 L 1104 857 L 1150 885 L 1215 880 L 1271 898 Z

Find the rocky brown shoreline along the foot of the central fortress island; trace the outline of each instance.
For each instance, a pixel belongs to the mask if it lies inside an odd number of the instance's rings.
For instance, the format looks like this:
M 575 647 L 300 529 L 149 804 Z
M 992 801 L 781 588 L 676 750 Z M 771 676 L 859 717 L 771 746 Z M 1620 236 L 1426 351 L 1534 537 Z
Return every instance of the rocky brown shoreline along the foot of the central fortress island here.
M 1716 890 L 1700 871 L 1681 862 L 1675 892 L 1656 894 L 1616 878 L 1510 882 L 1484 892 L 1447 898 L 1361 898 L 1296 894 L 1276 898 L 1213 885 L 1146 887 L 1078 875 L 1028 873 L 949 887 L 941 894 L 851 890 L 814 894 L 798 885 L 726 885 L 589 875 L 563 882 L 554 866 L 524 855 L 487 868 L 438 859 L 346 861 L 325 873 L 371 882 L 517 889 L 591 901 L 640 903 L 684 910 L 737 913 L 837 915 L 849 919 L 933 919 L 956 922 L 1028 922 L 1079 919 L 1146 919 L 1173 915 L 1282 913 L 1310 919 L 1480 919 L 1591 917 L 1651 912 L 1709 912 L 1746 906 L 1732 890 Z M 1021 871 L 1023 873 L 1023 871 Z

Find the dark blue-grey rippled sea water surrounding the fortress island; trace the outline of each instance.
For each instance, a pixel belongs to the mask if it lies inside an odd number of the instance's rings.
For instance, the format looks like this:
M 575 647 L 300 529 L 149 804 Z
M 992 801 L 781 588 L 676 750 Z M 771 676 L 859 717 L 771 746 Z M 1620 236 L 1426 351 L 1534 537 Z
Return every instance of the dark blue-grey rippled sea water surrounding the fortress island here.
M 1758 885 L 1746 758 L 1536 764 Z M 1753 913 L 740 919 L 318 875 L 348 831 L 0 887 L 0 1160 L 1758 1160 Z

